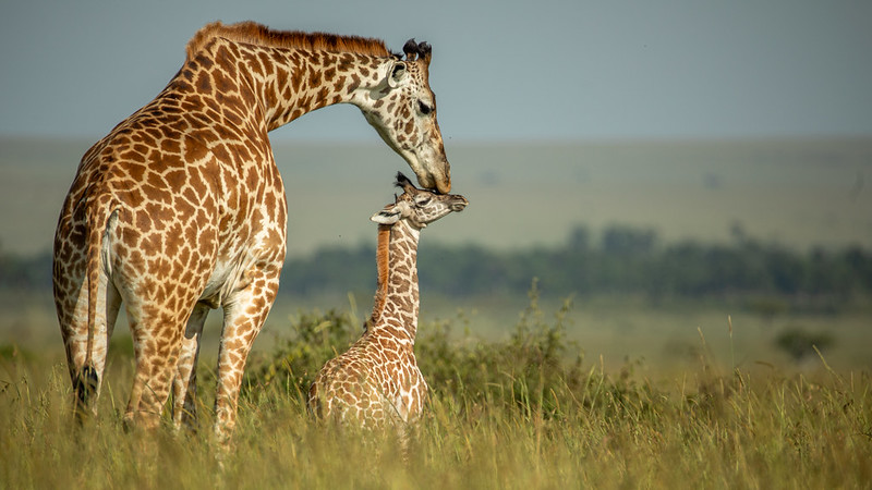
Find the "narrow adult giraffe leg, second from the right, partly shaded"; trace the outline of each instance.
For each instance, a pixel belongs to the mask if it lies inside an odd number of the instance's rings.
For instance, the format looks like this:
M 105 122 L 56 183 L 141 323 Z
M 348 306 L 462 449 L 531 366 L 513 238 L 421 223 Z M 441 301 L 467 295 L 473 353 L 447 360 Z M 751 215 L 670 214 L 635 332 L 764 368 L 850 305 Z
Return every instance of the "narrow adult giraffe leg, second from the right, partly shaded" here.
M 189 429 L 196 428 L 197 408 L 197 359 L 199 358 L 199 341 L 203 324 L 209 314 L 209 306 L 197 303 L 182 338 L 179 362 L 175 364 L 175 379 L 172 383 L 172 422 L 179 430 L 184 425 Z

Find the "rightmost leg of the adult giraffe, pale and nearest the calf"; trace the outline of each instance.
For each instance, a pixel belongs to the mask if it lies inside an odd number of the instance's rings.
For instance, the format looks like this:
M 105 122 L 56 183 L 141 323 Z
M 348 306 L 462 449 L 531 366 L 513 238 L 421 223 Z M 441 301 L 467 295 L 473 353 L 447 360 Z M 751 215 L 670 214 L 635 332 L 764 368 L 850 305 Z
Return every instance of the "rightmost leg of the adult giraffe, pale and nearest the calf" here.
M 237 425 L 237 405 L 245 362 L 276 298 L 280 272 L 280 267 L 252 271 L 249 285 L 225 304 L 215 397 L 215 434 L 223 445 L 229 442 Z

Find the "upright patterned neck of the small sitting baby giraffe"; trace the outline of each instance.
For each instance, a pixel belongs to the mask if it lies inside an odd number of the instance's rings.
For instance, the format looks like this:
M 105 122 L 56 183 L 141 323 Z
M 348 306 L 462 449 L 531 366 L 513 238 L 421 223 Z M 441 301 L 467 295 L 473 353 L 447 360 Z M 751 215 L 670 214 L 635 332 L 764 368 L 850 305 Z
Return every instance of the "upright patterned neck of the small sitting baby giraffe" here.
M 417 331 L 417 240 L 420 231 L 405 221 L 378 226 L 378 286 L 372 328 L 399 329 L 412 343 Z

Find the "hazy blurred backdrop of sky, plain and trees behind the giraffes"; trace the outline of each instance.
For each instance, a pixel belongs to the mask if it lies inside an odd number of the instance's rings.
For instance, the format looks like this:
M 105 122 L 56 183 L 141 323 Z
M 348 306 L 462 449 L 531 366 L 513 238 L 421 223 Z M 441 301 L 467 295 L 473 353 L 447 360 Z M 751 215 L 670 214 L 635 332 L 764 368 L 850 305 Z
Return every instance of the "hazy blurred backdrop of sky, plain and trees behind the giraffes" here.
M 872 3 L 841 0 L 4 4 L 0 345 L 61 351 L 50 247 L 78 160 L 215 20 L 433 46 L 471 205 L 423 235 L 425 322 L 506 335 L 537 278 L 607 364 L 680 367 L 702 335 L 740 365 L 801 367 L 813 344 L 872 366 Z M 311 308 L 363 316 L 368 217 L 407 164 L 351 106 L 271 139 L 290 218 L 266 331 Z

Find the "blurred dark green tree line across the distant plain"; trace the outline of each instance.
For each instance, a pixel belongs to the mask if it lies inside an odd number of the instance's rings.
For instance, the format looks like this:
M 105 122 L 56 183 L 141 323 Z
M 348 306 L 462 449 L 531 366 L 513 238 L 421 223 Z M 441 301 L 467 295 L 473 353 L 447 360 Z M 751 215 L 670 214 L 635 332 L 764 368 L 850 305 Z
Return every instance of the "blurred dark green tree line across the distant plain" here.
M 872 293 L 872 250 L 859 246 L 795 250 L 744 235 L 730 243 L 662 244 L 649 229 L 614 225 L 596 240 L 584 226 L 559 246 L 494 250 L 423 243 L 421 286 L 448 296 L 524 294 L 538 278 L 544 295 L 664 297 L 802 296 L 850 299 Z M 0 287 L 45 291 L 51 254 L 0 252 Z M 280 294 L 366 292 L 375 287 L 375 248 L 322 247 L 291 258 Z

